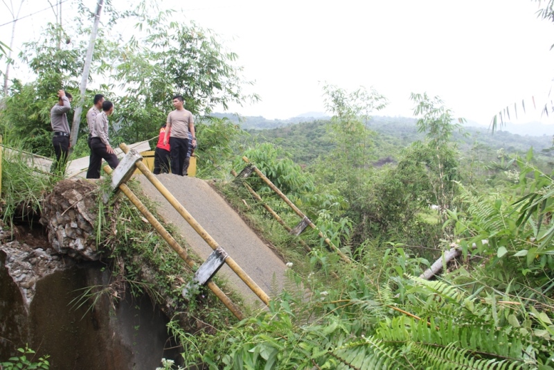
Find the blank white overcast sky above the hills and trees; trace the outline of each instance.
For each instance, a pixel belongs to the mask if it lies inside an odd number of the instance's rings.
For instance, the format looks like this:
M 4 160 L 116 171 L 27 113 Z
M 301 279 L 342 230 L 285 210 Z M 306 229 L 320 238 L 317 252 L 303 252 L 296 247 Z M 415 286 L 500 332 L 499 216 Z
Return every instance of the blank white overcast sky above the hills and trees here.
M 21 16 L 48 7 L 46 0 L 26 1 Z M 95 8 L 95 0 L 84 2 Z M 427 92 L 456 116 L 483 125 L 507 105 L 512 114 L 522 99 L 528 114 L 519 121 L 536 121 L 531 97 L 537 106 L 551 100 L 554 24 L 537 19 L 532 0 L 166 0 L 163 6 L 179 10 L 177 19 L 213 29 L 239 55 L 244 75 L 256 81 L 251 91 L 262 97 L 233 107 L 246 116 L 323 112 L 323 82 L 375 87 L 390 100 L 378 115 L 412 116 L 410 93 Z M 53 19 L 52 10 L 23 19 L 17 35 L 39 37 L 44 21 Z M 2 11 L 0 24 L 10 20 Z M 11 26 L 0 26 L 6 44 L 10 33 Z

